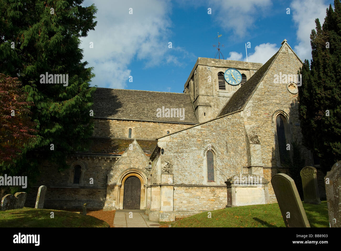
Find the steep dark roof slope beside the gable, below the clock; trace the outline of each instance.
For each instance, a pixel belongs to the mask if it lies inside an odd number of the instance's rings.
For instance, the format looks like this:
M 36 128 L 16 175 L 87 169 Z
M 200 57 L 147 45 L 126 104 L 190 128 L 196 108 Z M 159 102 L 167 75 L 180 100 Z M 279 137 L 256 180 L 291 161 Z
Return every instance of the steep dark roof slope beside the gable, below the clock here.
M 232 95 L 217 117 L 239 111 L 245 107 L 281 49 L 282 47 Z

